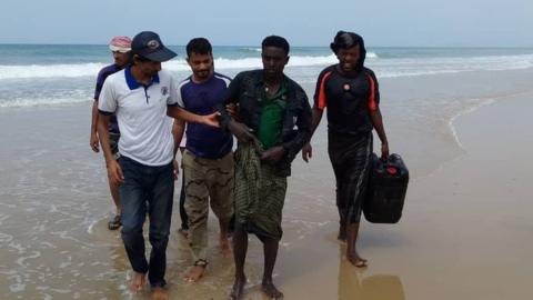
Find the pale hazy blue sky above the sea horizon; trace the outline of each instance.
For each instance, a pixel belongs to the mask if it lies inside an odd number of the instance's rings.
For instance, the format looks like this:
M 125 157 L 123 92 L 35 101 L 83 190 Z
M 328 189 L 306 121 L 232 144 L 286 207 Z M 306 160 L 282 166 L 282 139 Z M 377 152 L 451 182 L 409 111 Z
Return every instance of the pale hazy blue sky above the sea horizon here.
M 338 30 L 369 46 L 532 47 L 533 0 L 1 0 L 0 43 L 107 43 L 160 33 L 255 46 L 268 34 L 328 46 Z

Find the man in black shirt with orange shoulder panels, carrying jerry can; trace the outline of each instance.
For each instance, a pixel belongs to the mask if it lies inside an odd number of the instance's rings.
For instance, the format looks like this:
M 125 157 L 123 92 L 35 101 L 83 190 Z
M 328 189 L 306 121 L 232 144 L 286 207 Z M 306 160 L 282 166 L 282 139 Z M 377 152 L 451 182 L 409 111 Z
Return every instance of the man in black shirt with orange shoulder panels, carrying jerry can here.
M 331 43 L 339 63 L 325 68 L 316 81 L 313 106 L 313 132 L 328 107 L 328 152 L 336 180 L 336 207 L 340 216 L 339 239 L 346 240 L 346 257 L 355 267 L 366 260 L 355 249 L 361 208 L 366 189 L 372 154 L 372 129 L 381 140 L 382 158 L 389 157 L 389 143 L 380 111 L 378 80 L 365 68 L 363 39 L 339 31 Z M 312 154 L 308 143 L 303 160 Z

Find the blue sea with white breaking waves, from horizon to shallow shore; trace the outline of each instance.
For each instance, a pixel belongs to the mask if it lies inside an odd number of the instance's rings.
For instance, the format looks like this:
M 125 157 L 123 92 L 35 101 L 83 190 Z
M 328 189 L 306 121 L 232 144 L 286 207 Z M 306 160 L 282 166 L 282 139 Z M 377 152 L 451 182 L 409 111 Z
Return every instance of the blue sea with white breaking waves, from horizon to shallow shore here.
M 183 79 L 189 74 L 183 47 L 171 47 L 178 58 L 163 68 Z M 215 69 L 228 76 L 261 67 L 260 48 L 214 47 Z M 366 66 L 379 79 L 479 70 L 533 67 L 533 49 L 372 48 Z M 286 72 L 302 84 L 336 59 L 326 47 L 293 47 Z M 0 109 L 57 106 L 92 99 L 98 71 L 112 62 L 107 46 L 0 44 Z

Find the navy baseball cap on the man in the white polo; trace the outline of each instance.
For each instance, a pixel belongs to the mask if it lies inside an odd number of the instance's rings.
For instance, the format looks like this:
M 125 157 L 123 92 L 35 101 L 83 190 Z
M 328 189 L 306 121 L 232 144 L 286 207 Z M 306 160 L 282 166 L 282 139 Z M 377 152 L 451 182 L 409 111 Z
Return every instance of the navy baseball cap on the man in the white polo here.
M 138 33 L 131 41 L 131 52 L 142 58 L 163 62 L 175 56 L 175 52 L 164 47 L 158 33 L 152 31 L 142 31 Z

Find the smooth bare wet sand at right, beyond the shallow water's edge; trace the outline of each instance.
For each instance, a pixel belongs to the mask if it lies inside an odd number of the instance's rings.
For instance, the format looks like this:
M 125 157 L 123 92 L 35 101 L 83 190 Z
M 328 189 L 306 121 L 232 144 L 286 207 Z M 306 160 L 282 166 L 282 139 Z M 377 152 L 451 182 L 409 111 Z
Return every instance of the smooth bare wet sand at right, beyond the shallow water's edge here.
M 411 181 L 400 223 L 362 224 L 368 269 L 349 266 L 334 221 L 282 254 L 288 299 L 529 299 L 532 99 L 457 118 L 464 154 Z

